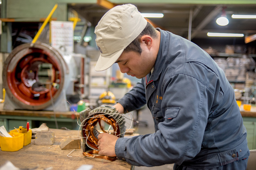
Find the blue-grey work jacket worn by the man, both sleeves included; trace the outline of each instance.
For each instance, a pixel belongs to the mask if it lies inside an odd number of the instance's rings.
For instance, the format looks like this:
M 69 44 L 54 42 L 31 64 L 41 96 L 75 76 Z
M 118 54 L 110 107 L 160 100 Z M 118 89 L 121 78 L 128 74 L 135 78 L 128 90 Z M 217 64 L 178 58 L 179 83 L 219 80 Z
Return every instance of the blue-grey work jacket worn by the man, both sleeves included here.
M 118 102 L 147 104 L 155 133 L 119 138 L 116 156 L 136 166 L 176 163 L 208 169 L 248 157 L 234 90 L 214 60 L 194 43 L 161 33 L 154 71 Z

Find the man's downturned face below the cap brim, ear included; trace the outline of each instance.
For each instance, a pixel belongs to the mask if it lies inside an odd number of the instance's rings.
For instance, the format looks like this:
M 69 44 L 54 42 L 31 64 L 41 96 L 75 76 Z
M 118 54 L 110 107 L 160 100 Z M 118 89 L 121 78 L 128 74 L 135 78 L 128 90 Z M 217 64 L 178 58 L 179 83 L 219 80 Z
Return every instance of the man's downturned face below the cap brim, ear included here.
M 123 52 L 116 63 L 122 73 L 143 78 L 152 70 L 155 59 L 148 49 L 142 49 L 141 55 L 134 51 Z

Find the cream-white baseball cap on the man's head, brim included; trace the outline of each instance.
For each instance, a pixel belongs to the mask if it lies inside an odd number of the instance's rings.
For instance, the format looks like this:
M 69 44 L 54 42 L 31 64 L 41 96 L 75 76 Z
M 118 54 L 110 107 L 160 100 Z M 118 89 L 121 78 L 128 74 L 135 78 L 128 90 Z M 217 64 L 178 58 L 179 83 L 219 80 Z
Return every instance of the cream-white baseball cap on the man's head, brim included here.
M 115 6 L 109 10 L 94 31 L 101 53 L 95 70 L 103 71 L 112 66 L 146 25 L 146 19 L 132 4 Z

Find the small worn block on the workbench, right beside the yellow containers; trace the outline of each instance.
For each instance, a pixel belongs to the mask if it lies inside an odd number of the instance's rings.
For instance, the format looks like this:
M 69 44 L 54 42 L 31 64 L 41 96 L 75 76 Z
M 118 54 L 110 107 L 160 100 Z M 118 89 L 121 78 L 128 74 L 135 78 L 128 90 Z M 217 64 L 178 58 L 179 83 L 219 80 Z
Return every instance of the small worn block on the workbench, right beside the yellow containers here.
M 55 141 L 54 132 L 42 131 L 36 133 L 35 145 L 53 145 Z

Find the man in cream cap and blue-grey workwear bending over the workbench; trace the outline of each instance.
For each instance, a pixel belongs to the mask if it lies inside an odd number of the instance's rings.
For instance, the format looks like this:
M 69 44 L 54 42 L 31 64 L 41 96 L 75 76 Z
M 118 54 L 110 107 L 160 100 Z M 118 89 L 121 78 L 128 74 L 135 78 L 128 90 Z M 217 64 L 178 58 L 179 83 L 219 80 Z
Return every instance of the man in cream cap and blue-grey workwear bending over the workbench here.
M 121 113 L 147 104 L 156 132 L 98 136 L 100 155 L 136 166 L 175 163 L 176 170 L 245 170 L 246 129 L 224 72 L 194 43 L 152 25 L 132 4 L 108 11 L 95 28 L 96 71 L 118 63 L 142 78 L 118 101 Z

